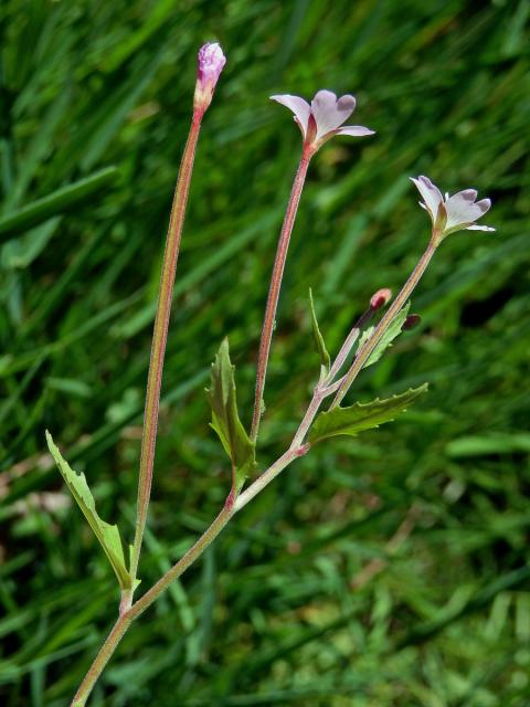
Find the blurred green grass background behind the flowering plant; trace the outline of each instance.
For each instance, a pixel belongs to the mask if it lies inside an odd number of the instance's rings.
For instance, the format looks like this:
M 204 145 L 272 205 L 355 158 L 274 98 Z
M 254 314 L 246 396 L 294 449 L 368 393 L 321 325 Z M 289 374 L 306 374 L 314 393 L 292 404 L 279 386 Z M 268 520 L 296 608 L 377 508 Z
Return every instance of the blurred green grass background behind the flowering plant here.
M 222 504 L 208 368 L 240 408 L 300 148 L 273 93 L 352 92 L 303 197 L 259 461 L 318 368 L 428 232 L 409 176 L 492 198 L 444 243 L 420 329 L 350 400 L 431 382 L 400 421 L 321 445 L 239 515 L 128 633 L 92 705 L 530 704 L 528 0 L 3 0 L 0 6 L 0 698 L 67 705 L 114 621 L 112 570 L 45 453 L 132 537 L 162 239 L 198 46 L 227 55 L 200 140 L 163 381 L 145 587 Z

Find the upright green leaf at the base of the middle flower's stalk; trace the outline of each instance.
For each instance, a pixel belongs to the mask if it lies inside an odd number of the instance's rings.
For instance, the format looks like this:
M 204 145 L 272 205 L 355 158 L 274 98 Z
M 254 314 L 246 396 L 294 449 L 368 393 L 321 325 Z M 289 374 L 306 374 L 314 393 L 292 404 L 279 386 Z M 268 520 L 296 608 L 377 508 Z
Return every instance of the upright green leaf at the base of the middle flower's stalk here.
M 232 489 L 240 490 L 256 466 L 256 445 L 237 414 L 234 367 L 230 361 L 227 339 L 221 344 L 212 363 L 211 387 L 206 394 L 212 408 L 212 428 L 232 462 Z

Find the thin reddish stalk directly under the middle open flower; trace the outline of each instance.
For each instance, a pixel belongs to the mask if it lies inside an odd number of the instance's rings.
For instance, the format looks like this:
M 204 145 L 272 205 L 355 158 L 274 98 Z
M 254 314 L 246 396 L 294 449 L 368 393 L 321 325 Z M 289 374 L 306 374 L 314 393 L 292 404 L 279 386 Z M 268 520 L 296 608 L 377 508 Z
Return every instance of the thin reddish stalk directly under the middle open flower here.
M 307 169 L 311 154 L 307 148 L 301 152 L 300 163 L 296 172 L 295 181 L 290 190 L 289 202 L 284 217 L 282 232 L 279 234 L 278 247 L 274 261 L 273 275 L 271 277 L 271 287 L 268 289 L 267 306 L 265 309 L 265 318 L 263 321 L 262 338 L 259 340 L 259 354 L 257 358 L 256 371 L 256 394 L 254 400 L 254 412 L 252 418 L 251 440 L 257 439 L 259 431 L 259 421 L 262 416 L 263 390 L 265 388 L 265 378 L 267 374 L 268 354 L 271 351 L 271 341 L 273 339 L 274 320 L 278 306 L 279 291 L 282 288 L 282 278 L 284 275 L 285 261 L 289 247 L 290 234 L 300 201 L 301 190 L 306 180 Z

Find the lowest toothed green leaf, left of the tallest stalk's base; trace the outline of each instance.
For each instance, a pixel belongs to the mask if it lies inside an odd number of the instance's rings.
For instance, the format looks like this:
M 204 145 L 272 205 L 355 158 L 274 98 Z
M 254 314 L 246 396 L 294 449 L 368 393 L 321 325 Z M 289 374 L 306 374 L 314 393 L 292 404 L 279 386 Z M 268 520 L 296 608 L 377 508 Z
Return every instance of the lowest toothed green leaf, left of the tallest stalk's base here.
M 102 548 L 105 550 L 105 555 L 116 572 L 119 585 L 121 589 L 130 589 L 130 576 L 125 566 L 124 548 L 121 546 L 118 526 L 112 526 L 99 518 L 96 511 L 96 503 L 91 489 L 88 488 L 85 475 L 74 472 L 61 455 L 61 452 L 53 443 L 52 435 L 47 431 L 46 441 L 50 452 L 55 460 L 59 471 L 66 482 L 72 496 L 75 498 L 77 505 L 83 511 L 83 515 L 88 520 L 88 525 L 93 529 L 94 535 L 99 540 Z

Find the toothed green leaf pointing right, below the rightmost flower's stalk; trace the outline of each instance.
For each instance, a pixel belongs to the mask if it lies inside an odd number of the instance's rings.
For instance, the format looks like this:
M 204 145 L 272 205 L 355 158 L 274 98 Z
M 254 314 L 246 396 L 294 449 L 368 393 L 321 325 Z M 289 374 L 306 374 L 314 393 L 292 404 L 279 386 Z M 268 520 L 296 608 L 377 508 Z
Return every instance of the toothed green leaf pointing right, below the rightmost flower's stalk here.
M 427 383 L 424 383 L 420 388 L 411 388 L 386 400 L 377 398 L 372 402 L 356 402 L 351 408 L 338 407 L 328 412 L 321 412 L 309 432 L 309 442 L 315 444 L 338 434 L 356 436 L 364 430 L 379 428 L 380 424 L 391 422 L 404 412 L 426 390 Z

